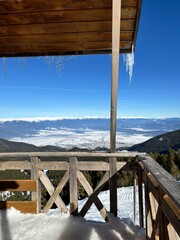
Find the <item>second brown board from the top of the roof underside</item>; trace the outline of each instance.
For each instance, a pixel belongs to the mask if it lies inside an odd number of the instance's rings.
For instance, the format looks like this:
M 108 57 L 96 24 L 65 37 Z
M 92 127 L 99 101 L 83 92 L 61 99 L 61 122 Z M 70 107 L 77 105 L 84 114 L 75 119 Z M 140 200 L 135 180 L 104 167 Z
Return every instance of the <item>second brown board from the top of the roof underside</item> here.
M 125 7 L 122 9 L 122 19 L 135 19 L 136 8 Z M 81 9 L 66 11 L 43 11 L 1 14 L 0 25 L 38 24 L 38 23 L 65 23 L 84 21 L 111 20 L 112 12 L 109 9 Z

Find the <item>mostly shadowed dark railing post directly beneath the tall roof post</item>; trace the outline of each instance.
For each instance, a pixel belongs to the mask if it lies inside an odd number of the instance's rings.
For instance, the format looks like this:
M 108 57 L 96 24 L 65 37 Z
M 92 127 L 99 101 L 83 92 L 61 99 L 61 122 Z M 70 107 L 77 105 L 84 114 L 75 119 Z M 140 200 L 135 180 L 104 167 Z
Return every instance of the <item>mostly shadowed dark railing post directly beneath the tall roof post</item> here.
M 110 212 L 117 216 L 117 159 L 109 158 L 110 170 Z

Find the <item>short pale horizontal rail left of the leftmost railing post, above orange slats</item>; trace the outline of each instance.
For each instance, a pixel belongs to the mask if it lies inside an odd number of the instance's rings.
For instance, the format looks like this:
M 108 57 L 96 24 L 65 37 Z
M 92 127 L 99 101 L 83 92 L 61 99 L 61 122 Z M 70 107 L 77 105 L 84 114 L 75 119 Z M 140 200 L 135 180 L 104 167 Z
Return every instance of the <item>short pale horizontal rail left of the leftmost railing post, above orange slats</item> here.
M 21 170 L 31 169 L 31 163 L 28 161 L 0 161 L 0 170 Z

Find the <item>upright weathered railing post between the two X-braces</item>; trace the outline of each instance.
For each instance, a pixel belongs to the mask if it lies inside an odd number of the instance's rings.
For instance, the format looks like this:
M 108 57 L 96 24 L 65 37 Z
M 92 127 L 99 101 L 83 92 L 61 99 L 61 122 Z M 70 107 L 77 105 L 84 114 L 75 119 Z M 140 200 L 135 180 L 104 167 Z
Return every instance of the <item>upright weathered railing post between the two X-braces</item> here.
M 69 184 L 70 184 L 70 214 L 78 214 L 78 183 L 77 183 L 77 158 L 70 157 L 69 162 Z

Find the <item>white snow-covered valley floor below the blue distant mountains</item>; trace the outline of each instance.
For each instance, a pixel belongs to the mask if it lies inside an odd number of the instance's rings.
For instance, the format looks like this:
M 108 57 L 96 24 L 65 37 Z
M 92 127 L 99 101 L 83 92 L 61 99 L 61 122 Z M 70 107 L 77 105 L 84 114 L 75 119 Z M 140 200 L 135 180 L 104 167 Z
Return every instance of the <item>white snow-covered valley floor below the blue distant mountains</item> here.
M 117 133 L 117 148 L 130 147 L 137 143 L 142 143 L 151 138 L 143 134 L 127 135 L 125 133 Z M 40 130 L 33 136 L 17 137 L 10 139 L 16 142 L 26 142 L 37 146 L 54 145 L 63 148 L 88 148 L 94 149 L 96 147 L 109 148 L 110 133 L 109 131 L 99 131 L 91 129 L 82 129 L 78 131 L 76 129 L 69 128 L 48 128 Z

